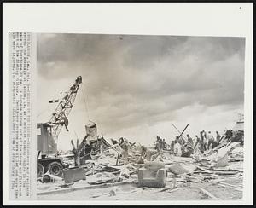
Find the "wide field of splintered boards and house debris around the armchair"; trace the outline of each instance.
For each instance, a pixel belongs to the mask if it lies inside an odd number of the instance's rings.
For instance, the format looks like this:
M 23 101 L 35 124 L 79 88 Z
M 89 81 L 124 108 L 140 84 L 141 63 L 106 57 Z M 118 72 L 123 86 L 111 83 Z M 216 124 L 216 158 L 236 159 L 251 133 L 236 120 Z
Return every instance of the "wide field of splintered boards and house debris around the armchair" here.
M 66 154 L 68 157 L 64 154 L 60 156 L 68 165 L 61 177 L 52 176 L 47 172 L 38 178 L 39 194 L 132 184 L 132 190 L 129 192 L 113 188 L 102 195 L 118 197 L 119 194 L 136 194 L 142 190 L 149 191 L 150 188 L 153 188 L 155 193 L 174 194 L 183 188 L 195 187 L 199 190 L 200 199 L 218 199 L 213 192 L 202 187 L 207 183 L 242 192 L 242 184 L 227 182 L 228 179 L 242 179 L 243 176 L 241 130 L 227 130 L 216 147 L 204 153 L 194 151 L 186 157 L 173 155 L 171 146 L 165 147 L 165 150 L 159 153 L 149 147 L 128 142 L 128 154 L 125 158 L 124 150 L 118 141 L 112 139 L 112 144 L 109 144 L 102 136 L 88 142 L 87 137 L 85 136 L 80 144 L 77 142 L 77 147 L 73 144 L 73 154 Z M 89 146 L 88 154 L 86 148 Z M 86 154 L 90 156 L 87 155 L 84 159 Z M 76 175 L 72 174 L 73 170 L 80 171 Z M 93 194 L 90 198 L 97 199 L 102 195 Z

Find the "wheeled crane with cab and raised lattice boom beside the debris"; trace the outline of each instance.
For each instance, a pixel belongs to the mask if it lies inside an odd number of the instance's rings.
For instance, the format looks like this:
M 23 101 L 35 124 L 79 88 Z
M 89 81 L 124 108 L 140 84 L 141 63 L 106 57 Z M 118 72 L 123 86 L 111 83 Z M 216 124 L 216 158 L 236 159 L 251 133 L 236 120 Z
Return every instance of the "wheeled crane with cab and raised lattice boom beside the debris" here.
M 61 176 L 63 168 L 67 166 L 57 155 L 57 140 L 63 125 L 66 130 L 68 130 L 67 116 L 73 107 L 73 103 L 79 90 L 79 84 L 81 83 L 82 77 L 79 76 L 76 78 L 75 83 L 70 87 L 67 94 L 61 101 L 59 101 L 49 122 L 37 124 L 38 176 L 42 176 L 48 170 L 52 175 Z M 41 157 L 39 158 L 40 155 Z

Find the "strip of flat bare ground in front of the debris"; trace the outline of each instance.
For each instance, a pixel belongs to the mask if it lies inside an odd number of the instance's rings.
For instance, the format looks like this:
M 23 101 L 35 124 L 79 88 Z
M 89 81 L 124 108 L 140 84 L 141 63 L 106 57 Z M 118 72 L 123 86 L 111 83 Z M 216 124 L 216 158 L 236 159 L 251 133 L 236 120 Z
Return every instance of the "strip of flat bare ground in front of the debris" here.
M 227 179 L 233 185 L 242 184 L 242 179 Z M 166 188 L 172 187 L 172 182 L 166 182 Z M 212 182 L 185 182 L 179 184 L 177 189 L 163 188 L 137 188 L 136 184 L 125 184 L 108 188 L 80 189 L 67 193 L 38 195 L 39 200 L 200 200 L 211 199 L 201 192 L 203 188 L 218 199 L 241 199 L 242 192 L 234 188 L 225 188 Z M 162 191 L 161 191 L 162 190 Z

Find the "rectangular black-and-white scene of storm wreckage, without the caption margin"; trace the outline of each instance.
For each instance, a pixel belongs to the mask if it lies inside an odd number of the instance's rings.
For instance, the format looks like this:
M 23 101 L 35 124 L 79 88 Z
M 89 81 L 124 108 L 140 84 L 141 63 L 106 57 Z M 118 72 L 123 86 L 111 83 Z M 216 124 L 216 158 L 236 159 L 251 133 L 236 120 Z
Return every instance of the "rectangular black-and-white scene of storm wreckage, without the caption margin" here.
M 245 38 L 37 38 L 38 199 L 242 198 Z

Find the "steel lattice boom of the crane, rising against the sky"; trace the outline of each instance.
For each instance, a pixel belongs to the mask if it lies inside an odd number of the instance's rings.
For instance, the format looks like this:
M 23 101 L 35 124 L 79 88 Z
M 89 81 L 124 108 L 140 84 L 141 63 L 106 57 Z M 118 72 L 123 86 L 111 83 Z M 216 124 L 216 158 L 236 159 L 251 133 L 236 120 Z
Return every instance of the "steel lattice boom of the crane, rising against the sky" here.
M 67 116 L 73 107 L 73 103 L 79 90 L 79 84 L 81 83 L 82 77 L 79 76 L 76 78 L 75 83 L 68 90 L 67 95 L 65 95 L 59 102 L 58 106 L 55 109 L 55 112 L 52 113 L 52 117 L 50 118 L 49 123 L 53 124 L 51 134 L 55 140 L 57 140 L 57 137 L 60 134 L 63 125 L 65 125 L 67 129 Z

